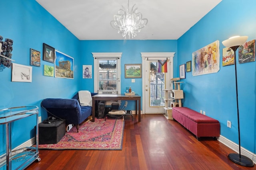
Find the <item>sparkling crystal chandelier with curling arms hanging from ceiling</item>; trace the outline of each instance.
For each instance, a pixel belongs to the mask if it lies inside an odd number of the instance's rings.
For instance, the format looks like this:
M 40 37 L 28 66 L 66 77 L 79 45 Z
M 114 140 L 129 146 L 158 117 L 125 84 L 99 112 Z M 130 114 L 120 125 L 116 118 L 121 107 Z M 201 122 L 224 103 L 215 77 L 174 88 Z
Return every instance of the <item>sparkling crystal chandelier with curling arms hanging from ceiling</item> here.
M 135 6 L 136 4 L 134 4 Z M 148 23 L 148 19 L 142 18 L 142 14 L 137 12 L 137 8 L 129 10 L 129 0 L 128 0 L 128 9 L 120 9 L 118 14 L 114 15 L 114 20 L 110 21 L 110 25 L 114 29 L 118 29 L 118 33 L 122 33 L 122 36 L 126 39 L 126 35 L 130 39 L 130 36 L 134 38 L 137 33 L 140 32 L 140 29 L 145 27 Z

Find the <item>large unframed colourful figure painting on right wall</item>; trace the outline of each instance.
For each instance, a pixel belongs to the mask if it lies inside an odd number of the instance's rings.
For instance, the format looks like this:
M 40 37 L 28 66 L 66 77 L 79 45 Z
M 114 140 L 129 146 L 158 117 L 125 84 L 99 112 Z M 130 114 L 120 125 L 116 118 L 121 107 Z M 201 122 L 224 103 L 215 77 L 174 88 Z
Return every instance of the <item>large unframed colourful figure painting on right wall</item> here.
M 192 68 L 193 76 L 215 73 L 220 70 L 218 40 L 192 53 Z

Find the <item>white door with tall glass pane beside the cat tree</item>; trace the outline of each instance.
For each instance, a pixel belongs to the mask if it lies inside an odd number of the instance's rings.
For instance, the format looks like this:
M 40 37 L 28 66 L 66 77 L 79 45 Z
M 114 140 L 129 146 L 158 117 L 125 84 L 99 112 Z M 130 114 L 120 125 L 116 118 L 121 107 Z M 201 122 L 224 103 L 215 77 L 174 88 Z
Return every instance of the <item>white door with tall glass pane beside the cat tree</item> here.
M 159 60 L 166 61 L 167 72 L 158 71 L 160 67 Z M 144 73 L 143 113 L 164 114 L 165 92 L 163 89 L 171 88 L 170 79 L 173 77 L 172 57 L 145 57 L 142 63 L 144 63 L 142 66 Z

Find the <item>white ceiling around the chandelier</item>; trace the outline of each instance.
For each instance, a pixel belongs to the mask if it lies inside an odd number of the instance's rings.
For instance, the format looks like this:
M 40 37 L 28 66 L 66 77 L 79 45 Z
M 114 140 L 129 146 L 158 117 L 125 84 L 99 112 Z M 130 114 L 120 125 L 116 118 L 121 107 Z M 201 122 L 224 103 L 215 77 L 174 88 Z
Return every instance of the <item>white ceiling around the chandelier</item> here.
M 110 25 L 128 0 L 36 0 L 80 40 L 122 40 Z M 130 0 L 146 27 L 134 39 L 178 39 L 221 0 Z M 127 37 L 128 38 L 128 37 Z

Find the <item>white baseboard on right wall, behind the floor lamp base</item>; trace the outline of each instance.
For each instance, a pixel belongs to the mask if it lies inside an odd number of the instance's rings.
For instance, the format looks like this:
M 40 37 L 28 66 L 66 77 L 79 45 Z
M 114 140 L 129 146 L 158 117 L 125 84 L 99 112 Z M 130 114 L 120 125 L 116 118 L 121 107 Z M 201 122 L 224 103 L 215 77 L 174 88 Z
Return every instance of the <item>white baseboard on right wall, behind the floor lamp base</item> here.
M 220 135 L 220 137 L 218 138 L 218 141 L 220 141 L 221 143 L 223 143 L 230 149 L 234 150 L 234 152 L 239 153 L 239 145 L 238 144 L 230 141 L 229 139 L 225 138 L 222 135 Z M 250 152 L 249 150 L 244 149 L 243 147 L 241 147 L 241 154 L 250 158 L 252 160 L 252 162 L 254 162 L 254 164 L 256 163 L 256 154 Z

